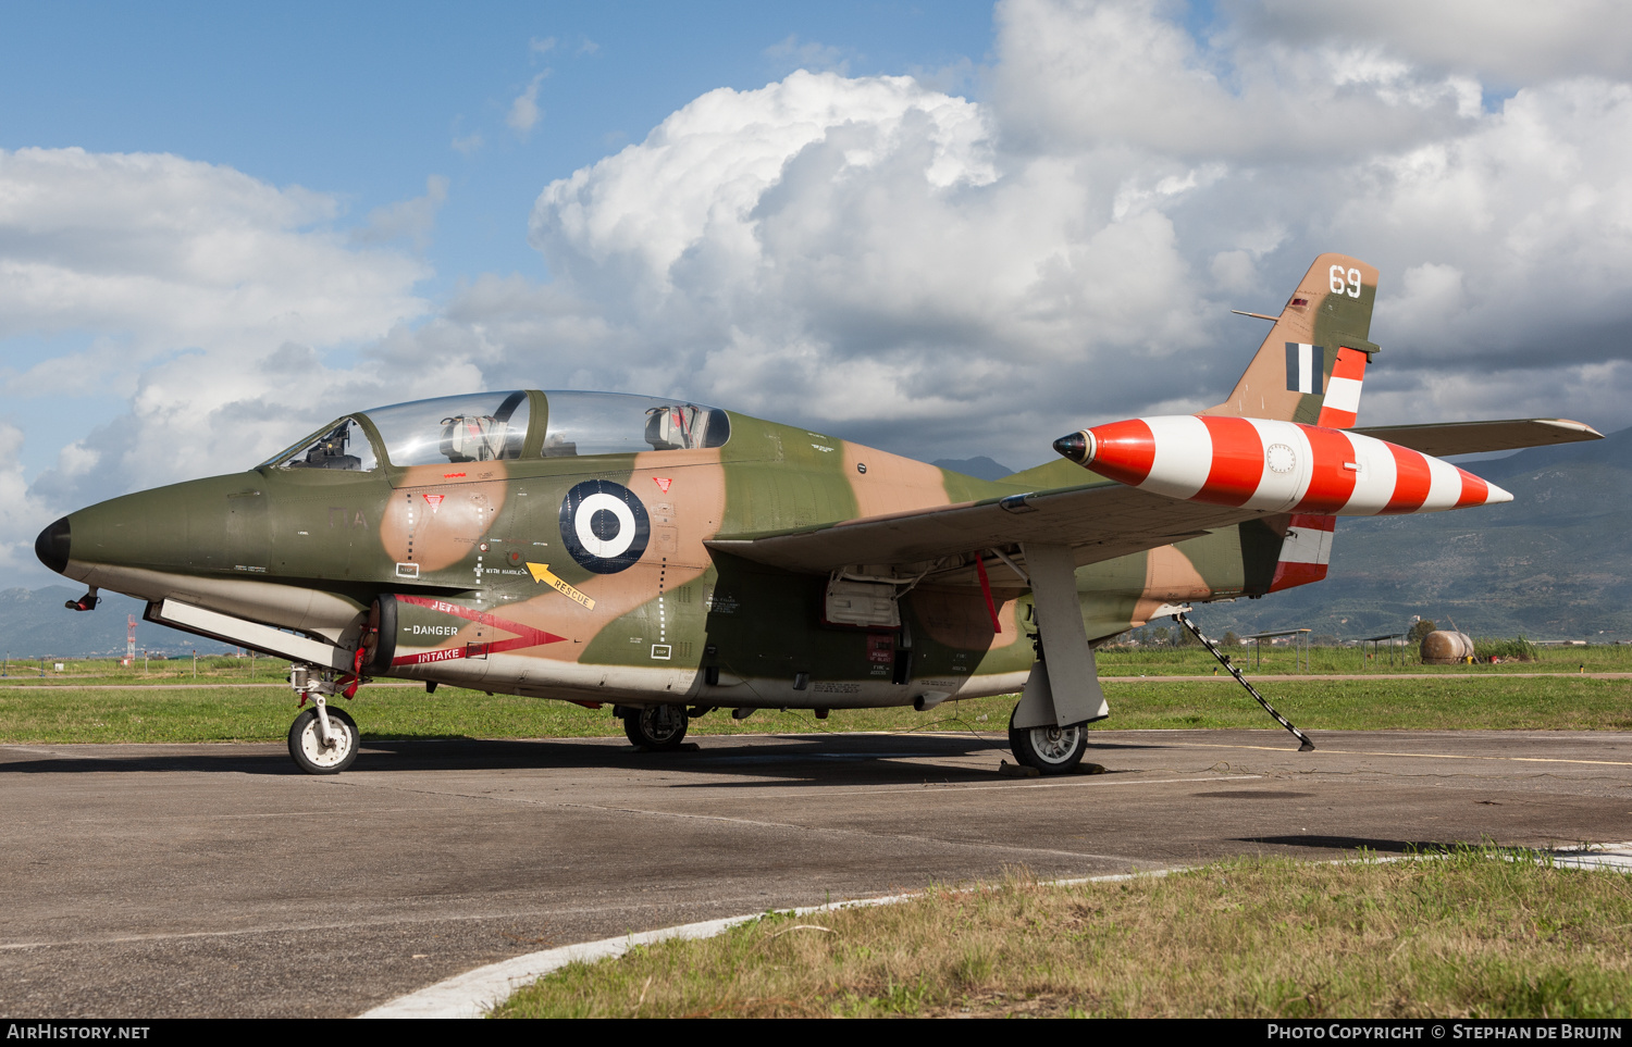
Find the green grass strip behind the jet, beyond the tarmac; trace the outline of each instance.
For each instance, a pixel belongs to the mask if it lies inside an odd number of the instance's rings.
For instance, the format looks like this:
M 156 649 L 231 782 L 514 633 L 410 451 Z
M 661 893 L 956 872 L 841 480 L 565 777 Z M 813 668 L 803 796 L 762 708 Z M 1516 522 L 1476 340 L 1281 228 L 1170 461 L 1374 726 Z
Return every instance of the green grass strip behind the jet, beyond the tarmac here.
M 191 683 L 191 678 L 186 680 Z M 1591 677 L 1420 680 L 1270 680 L 1263 695 L 1306 731 L 1376 729 L 1632 729 L 1632 680 Z M 1111 718 L 1098 731 L 1141 727 L 1266 727 L 1275 722 L 1229 677 L 1183 683 L 1106 683 Z M 610 706 L 483 695 L 442 687 L 364 687 L 338 705 L 366 739 L 622 737 Z M 1013 696 L 938 706 L 808 711 L 774 709 L 744 721 L 715 711 L 692 721 L 695 736 L 816 731 L 1002 731 Z M 0 742 L 250 742 L 286 736 L 295 700 L 273 687 L 144 687 L 90 690 L 7 687 L 0 682 Z

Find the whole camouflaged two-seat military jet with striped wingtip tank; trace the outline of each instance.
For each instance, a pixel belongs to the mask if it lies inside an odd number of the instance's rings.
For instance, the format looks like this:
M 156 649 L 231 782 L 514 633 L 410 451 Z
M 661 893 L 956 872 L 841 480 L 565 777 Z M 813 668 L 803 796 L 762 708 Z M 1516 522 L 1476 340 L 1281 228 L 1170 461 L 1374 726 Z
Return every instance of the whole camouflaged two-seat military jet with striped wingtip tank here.
M 377 677 L 612 705 L 656 750 L 716 709 L 1022 691 L 1015 758 L 1064 773 L 1108 714 L 1097 644 L 1322 579 L 1338 515 L 1510 497 L 1430 455 L 1599 435 L 1355 429 L 1376 281 L 1322 254 L 1279 315 L 1248 313 L 1275 326 L 1227 400 L 1084 429 L 999 481 L 681 398 L 516 390 L 349 414 L 70 514 L 36 553 L 90 585 L 77 610 L 111 589 L 290 659 L 310 773 L 353 763 L 331 700 Z

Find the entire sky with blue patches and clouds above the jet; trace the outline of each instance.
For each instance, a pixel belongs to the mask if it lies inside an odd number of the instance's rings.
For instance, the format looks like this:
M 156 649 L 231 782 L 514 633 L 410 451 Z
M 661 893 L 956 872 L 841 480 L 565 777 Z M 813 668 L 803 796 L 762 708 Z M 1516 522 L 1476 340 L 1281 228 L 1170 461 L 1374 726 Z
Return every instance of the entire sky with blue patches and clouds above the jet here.
M 1619 0 L 11 5 L 0 584 L 481 388 L 1020 468 L 1217 401 L 1322 251 L 1361 421 L 1632 424 Z

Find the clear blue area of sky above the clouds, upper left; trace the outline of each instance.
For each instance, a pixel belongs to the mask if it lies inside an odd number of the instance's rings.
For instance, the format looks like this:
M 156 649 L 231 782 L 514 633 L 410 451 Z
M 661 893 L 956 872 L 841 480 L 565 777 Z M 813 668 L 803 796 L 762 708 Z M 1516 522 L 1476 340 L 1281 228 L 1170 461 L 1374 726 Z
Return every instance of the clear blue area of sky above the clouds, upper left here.
M 978 91 L 991 38 L 991 3 L 968 0 L 11 7 L 0 148 L 176 153 L 331 192 L 353 220 L 441 174 L 421 287 L 437 295 L 545 276 L 526 238 L 539 189 L 708 90 L 816 64 Z M 506 116 L 540 73 L 521 135 Z

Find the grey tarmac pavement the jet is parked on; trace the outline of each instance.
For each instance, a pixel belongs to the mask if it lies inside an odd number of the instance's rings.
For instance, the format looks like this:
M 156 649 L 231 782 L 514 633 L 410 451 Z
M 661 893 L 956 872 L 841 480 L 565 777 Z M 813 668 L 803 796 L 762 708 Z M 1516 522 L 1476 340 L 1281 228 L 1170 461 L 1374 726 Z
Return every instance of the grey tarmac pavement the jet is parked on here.
M 630 931 L 1226 855 L 1632 837 L 1632 734 L 1095 731 L 1103 775 L 1005 778 L 999 734 L 0 747 L 0 1014 L 348 1016 Z

